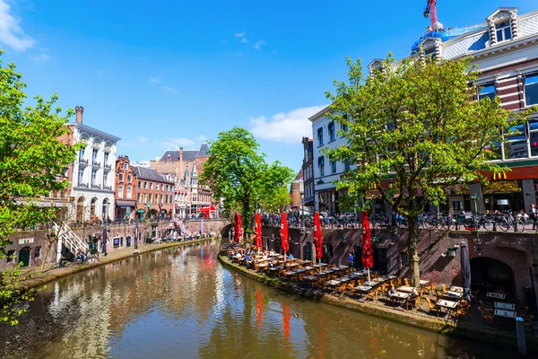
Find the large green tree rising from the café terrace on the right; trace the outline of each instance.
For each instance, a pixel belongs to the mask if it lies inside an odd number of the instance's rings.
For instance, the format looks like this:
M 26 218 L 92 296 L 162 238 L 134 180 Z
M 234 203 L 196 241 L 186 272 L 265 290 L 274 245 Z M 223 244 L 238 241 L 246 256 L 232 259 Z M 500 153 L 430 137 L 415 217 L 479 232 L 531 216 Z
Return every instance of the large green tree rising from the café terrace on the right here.
M 485 180 L 481 171 L 503 169 L 488 162 L 495 144 L 528 113 L 510 114 L 499 101 L 474 101 L 477 73 L 470 58 L 395 64 L 363 76 L 360 60 L 348 58 L 349 81 L 334 82 L 329 117 L 347 125 L 348 144 L 327 151 L 331 160 L 357 163 L 338 182 L 351 197 L 365 197 L 375 187 L 395 211 L 407 217 L 412 285 L 419 285 L 418 216 L 428 203 L 445 202 L 448 186 Z M 510 118 L 511 117 L 511 118 Z M 510 122 L 508 119 L 515 122 Z M 367 209 L 369 206 L 366 201 Z

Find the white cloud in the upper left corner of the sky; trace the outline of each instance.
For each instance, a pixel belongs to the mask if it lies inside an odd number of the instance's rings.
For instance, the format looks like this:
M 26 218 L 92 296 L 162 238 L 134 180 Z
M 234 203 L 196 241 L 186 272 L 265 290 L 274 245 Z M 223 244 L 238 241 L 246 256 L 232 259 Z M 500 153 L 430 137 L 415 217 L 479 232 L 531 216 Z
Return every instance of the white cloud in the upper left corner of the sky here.
M 22 31 L 19 22 L 20 19 L 10 13 L 10 6 L 0 0 L 0 43 L 15 51 L 25 51 L 34 46 L 36 40 Z

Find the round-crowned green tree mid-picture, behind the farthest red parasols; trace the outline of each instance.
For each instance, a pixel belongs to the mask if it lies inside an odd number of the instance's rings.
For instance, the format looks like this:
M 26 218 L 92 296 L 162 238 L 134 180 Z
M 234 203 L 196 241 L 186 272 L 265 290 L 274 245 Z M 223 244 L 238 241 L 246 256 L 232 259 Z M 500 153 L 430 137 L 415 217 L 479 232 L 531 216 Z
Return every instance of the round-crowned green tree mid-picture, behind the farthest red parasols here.
M 241 213 L 245 232 L 250 233 L 256 209 L 263 203 L 276 203 L 273 196 L 292 178 L 293 171 L 280 162 L 265 162 L 265 154 L 259 152 L 252 134 L 233 127 L 210 143 L 200 182 L 212 188 L 215 197 L 224 198 L 226 213 Z

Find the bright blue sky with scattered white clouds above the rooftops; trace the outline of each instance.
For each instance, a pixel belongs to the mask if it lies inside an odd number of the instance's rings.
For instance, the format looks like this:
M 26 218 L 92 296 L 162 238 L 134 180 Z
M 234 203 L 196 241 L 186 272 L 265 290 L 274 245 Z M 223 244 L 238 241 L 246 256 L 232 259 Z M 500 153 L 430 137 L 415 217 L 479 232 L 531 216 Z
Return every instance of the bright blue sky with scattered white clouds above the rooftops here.
M 0 0 L 0 48 L 30 96 L 84 107 L 84 123 L 119 136 L 118 154 L 150 160 L 167 148 L 245 127 L 295 170 L 307 118 L 345 79 L 345 56 L 409 54 L 429 25 L 425 0 Z M 438 0 L 445 27 L 483 22 L 535 0 Z

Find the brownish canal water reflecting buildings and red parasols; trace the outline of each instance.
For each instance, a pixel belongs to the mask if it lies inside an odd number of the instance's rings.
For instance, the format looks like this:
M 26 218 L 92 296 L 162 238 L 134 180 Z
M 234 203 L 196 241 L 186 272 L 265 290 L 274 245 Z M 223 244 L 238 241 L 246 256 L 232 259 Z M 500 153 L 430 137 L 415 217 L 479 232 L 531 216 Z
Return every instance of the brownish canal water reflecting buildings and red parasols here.
M 48 285 L 0 358 L 508 358 L 298 298 L 221 267 L 218 240 L 143 254 Z

